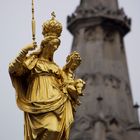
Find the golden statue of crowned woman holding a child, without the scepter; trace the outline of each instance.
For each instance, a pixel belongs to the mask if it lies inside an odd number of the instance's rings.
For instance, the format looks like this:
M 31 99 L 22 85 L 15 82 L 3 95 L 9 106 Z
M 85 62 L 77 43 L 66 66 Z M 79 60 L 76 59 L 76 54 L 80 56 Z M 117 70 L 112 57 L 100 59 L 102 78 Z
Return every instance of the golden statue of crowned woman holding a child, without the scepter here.
M 24 111 L 25 140 L 69 139 L 75 106 L 85 82 L 74 77 L 81 62 L 77 52 L 67 57 L 62 69 L 53 61 L 61 32 L 62 25 L 53 13 L 43 24 L 40 48 L 36 51 L 34 42 L 27 45 L 9 65 L 17 105 Z

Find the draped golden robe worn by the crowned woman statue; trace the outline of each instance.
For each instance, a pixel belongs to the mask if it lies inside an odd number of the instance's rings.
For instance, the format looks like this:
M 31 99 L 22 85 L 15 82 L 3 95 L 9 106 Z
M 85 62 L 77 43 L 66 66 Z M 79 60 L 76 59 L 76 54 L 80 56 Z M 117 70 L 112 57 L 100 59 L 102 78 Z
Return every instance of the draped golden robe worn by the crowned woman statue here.
M 18 107 L 24 111 L 25 140 L 68 140 L 73 122 L 71 102 L 60 90 L 61 70 L 31 55 L 9 67 Z

